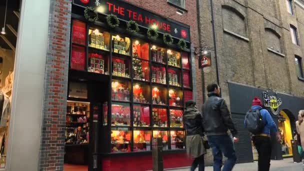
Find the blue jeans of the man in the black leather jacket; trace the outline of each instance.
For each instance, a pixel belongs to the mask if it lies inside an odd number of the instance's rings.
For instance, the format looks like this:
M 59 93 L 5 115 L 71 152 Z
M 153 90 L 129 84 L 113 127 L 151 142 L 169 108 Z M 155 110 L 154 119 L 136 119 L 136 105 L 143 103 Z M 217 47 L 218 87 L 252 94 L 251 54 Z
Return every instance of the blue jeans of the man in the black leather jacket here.
M 207 136 L 213 154 L 213 171 L 220 171 L 222 154 L 228 159 L 222 171 L 231 171 L 236 162 L 232 139 L 229 135 Z

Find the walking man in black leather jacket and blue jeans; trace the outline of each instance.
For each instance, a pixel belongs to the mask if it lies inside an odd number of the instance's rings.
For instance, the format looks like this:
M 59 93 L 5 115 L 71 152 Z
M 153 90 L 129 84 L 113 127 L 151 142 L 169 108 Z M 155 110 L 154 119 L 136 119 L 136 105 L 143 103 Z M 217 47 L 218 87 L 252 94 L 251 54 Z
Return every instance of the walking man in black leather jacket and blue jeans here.
M 231 137 L 238 141 L 237 130 L 232 122 L 230 111 L 225 100 L 219 96 L 220 90 L 217 84 L 207 86 L 208 99 L 202 106 L 202 122 L 204 131 L 208 137 L 213 154 L 213 171 L 220 171 L 222 166 L 222 154 L 227 157 L 222 171 L 231 171 L 236 162 L 236 155 Z

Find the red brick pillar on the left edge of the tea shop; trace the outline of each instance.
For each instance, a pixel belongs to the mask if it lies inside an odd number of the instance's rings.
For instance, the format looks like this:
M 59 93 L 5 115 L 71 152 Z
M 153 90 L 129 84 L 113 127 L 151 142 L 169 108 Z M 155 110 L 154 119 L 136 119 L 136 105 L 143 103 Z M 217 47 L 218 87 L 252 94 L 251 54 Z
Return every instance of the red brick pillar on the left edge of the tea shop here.
M 71 0 L 50 0 L 39 170 L 63 170 Z

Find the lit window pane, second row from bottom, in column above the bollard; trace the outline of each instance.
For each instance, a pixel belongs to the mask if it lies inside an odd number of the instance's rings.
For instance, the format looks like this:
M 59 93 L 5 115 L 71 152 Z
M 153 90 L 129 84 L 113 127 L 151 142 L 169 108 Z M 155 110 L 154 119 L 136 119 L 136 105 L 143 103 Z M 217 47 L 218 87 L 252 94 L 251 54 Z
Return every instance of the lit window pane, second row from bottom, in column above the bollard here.
M 153 127 L 167 127 L 167 109 L 152 108 Z

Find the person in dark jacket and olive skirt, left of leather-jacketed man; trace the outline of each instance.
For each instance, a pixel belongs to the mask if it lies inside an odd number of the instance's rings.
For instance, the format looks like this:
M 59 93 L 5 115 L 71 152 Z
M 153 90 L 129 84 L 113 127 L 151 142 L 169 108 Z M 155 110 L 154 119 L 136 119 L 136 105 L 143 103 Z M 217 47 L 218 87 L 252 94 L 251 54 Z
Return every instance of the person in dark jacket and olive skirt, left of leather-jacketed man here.
M 194 171 L 198 166 L 198 171 L 204 170 L 203 154 L 206 152 L 203 146 L 203 128 L 201 125 L 201 114 L 195 106 L 195 101 L 187 100 L 183 112 L 183 124 L 186 128 L 186 149 L 187 154 L 191 154 L 194 158 L 191 166 L 191 171 Z

